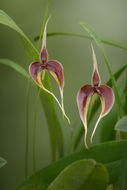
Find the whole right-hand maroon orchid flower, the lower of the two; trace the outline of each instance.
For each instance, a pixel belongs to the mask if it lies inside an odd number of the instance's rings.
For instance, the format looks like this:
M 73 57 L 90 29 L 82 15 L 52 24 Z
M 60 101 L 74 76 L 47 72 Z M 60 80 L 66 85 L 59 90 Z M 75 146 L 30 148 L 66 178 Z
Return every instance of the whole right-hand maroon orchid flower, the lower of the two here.
M 86 84 L 83 86 L 77 95 L 77 104 L 78 109 L 80 113 L 81 120 L 83 122 L 84 128 L 85 128 L 85 135 L 84 135 L 84 143 L 86 148 L 88 148 L 86 143 L 86 137 L 87 137 L 87 112 L 90 102 L 92 101 L 92 98 L 96 95 L 100 97 L 101 105 L 102 105 L 102 111 L 100 113 L 100 116 L 94 126 L 92 135 L 91 135 L 91 143 L 93 141 L 93 136 L 96 131 L 96 128 L 98 126 L 99 121 L 102 117 L 107 115 L 109 111 L 111 110 L 113 104 L 114 104 L 114 93 L 112 89 L 109 86 L 106 85 L 100 85 L 100 76 L 98 72 L 97 67 L 97 60 L 95 56 L 95 52 L 92 46 L 92 56 L 93 56 L 93 75 L 92 75 L 92 83 L 93 85 Z

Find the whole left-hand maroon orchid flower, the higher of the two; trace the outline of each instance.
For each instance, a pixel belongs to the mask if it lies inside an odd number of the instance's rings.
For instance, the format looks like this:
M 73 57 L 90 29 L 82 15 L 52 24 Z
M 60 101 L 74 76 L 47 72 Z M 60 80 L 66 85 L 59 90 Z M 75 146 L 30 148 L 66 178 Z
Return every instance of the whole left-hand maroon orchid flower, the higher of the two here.
M 48 19 L 49 20 L 49 19 Z M 46 21 L 44 32 L 43 32 L 43 39 L 42 39 L 42 48 L 40 52 L 40 60 L 36 61 L 29 66 L 29 73 L 34 80 L 34 82 L 42 88 L 44 91 L 49 93 L 50 95 L 53 96 L 53 98 L 56 100 L 58 103 L 60 109 L 62 110 L 63 116 L 66 117 L 68 122 L 70 123 L 69 118 L 65 114 L 64 111 L 64 104 L 63 104 L 63 88 L 64 88 L 64 75 L 63 75 L 63 67 L 62 65 L 56 61 L 56 60 L 49 60 L 48 59 L 48 52 L 46 49 L 46 35 L 47 35 L 47 24 L 48 20 Z M 56 80 L 56 82 L 59 85 L 60 89 L 60 95 L 61 95 L 61 104 L 57 97 L 48 89 L 44 87 L 44 77 L 45 77 L 45 70 L 47 70 Z

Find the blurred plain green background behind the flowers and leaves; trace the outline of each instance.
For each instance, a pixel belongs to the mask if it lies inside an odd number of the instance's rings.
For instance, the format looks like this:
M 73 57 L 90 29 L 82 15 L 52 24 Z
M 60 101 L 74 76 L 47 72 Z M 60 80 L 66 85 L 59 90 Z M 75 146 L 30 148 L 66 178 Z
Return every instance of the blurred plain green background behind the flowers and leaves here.
M 0 0 L 0 9 L 11 16 L 19 27 L 33 41 L 41 29 L 44 16 L 44 0 Z M 51 20 L 48 32 L 84 33 L 80 21 L 91 25 L 106 39 L 127 44 L 127 1 L 126 0 L 51 0 L 49 7 Z M 94 45 L 102 83 L 109 78 L 103 57 Z M 111 68 L 115 72 L 127 62 L 124 50 L 105 45 Z M 81 86 L 90 83 L 92 74 L 92 56 L 90 41 L 76 37 L 55 36 L 47 39 L 50 58 L 59 60 L 64 66 L 65 88 L 64 103 L 72 126 L 80 123 L 76 105 L 76 95 Z M 14 60 L 28 70 L 26 57 L 19 36 L 5 26 L 0 25 L 0 58 Z M 53 84 L 57 95 L 58 88 Z M 27 80 L 12 69 L 0 65 L 0 156 L 8 164 L 0 169 L 0 190 L 14 190 L 24 180 L 25 156 L 25 97 Z M 32 129 L 36 92 L 30 94 L 30 151 L 29 175 L 32 174 Z M 70 128 L 57 112 L 63 126 L 66 139 L 66 154 L 70 138 Z M 37 169 L 50 163 L 50 145 L 47 123 L 42 107 L 37 115 Z M 97 141 L 97 139 L 96 139 Z

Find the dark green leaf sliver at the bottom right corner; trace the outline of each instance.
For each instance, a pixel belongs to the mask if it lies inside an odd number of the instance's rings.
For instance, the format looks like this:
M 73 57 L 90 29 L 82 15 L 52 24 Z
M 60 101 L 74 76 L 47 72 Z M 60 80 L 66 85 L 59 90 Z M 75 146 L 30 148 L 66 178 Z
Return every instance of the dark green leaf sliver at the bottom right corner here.
M 123 153 L 117 190 L 127 190 L 127 146 Z

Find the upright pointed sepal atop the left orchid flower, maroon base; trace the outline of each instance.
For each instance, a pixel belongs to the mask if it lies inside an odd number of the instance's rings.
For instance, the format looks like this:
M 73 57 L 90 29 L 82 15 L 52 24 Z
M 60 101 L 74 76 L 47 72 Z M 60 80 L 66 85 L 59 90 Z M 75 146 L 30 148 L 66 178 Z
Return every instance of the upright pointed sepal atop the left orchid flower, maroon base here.
M 41 48 L 41 53 L 40 53 L 40 58 L 42 62 L 46 62 L 48 59 L 48 52 L 46 49 L 46 36 L 47 36 L 47 24 L 50 18 L 47 19 L 45 23 L 45 28 L 43 32 L 43 38 L 42 38 L 42 48 Z

